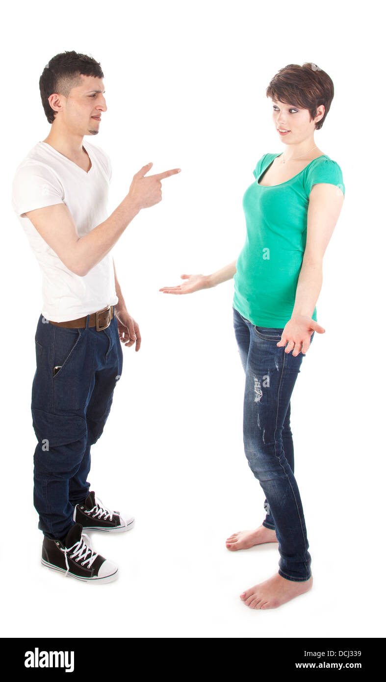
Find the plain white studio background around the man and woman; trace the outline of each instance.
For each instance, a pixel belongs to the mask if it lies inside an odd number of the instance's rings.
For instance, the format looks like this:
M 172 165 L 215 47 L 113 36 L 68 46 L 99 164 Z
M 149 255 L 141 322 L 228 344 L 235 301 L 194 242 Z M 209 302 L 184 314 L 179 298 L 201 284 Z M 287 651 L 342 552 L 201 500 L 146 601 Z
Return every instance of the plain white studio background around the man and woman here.
M 2 63 L 2 611 L 4 636 L 194 638 L 380 637 L 383 630 L 385 130 L 376 3 L 164 0 L 16 3 Z M 91 489 L 136 517 L 130 533 L 92 533 L 117 561 L 105 587 L 40 565 L 30 411 L 38 264 L 10 204 L 14 170 L 49 125 L 39 93 L 64 50 L 100 61 L 108 111 L 94 141 L 113 159 L 110 212 L 132 175 L 181 167 L 163 201 L 113 250 L 139 353 L 93 449 Z M 324 335 L 303 359 L 292 406 L 295 474 L 314 587 L 276 610 L 239 594 L 273 575 L 276 545 L 228 552 L 231 533 L 264 518 L 242 443 L 243 370 L 233 282 L 190 296 L 158 293 L 183 272 L 237 258 L 243 192 L 284 144 L 265 96 L 288 63 L 313 61 L 335 97 L 318 147 L 343 172 L 346 198 L 317 302 Z M 95 628 L 93 624 L 95 623 Z M 98 623 L 98 625 L 97 625 Z M 87 625 L 85 625 L 87 624 Z

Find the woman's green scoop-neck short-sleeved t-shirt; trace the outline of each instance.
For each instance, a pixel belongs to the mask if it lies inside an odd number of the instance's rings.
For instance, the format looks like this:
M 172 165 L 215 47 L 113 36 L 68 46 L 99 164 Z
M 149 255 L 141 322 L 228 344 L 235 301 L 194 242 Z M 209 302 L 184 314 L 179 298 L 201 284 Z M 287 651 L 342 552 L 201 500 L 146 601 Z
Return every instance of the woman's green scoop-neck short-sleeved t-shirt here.
M 285 327 L 291 318 L 307 237 L 310 191 L 318 182 L 344 194 L 342 170 L 323 154 L 280 185 L 258 180 L 280 154 L 265 154 L 243 196 L 246 242 L 236 263 L 233 306 L 258 327 Z M 316 308 L 312 314 L 316 319 Z

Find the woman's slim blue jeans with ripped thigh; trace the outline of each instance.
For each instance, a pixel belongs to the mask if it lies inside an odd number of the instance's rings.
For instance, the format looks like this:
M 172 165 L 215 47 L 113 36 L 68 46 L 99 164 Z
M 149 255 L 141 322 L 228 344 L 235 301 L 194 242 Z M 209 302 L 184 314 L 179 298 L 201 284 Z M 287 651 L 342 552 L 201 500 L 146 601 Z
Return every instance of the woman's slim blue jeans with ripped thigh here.
M 233 324 L 246 372 L 243 439 L 248 464 L 265 494 L 263 526 L 276 531 L 279 574 L 308 580 L 311 557 L 294 472 L 290 400 L 303 354 L 277 346 L 283 329 L 256 327 L 233 308 Z M 311 342 L 314 332 L 311 336 Z

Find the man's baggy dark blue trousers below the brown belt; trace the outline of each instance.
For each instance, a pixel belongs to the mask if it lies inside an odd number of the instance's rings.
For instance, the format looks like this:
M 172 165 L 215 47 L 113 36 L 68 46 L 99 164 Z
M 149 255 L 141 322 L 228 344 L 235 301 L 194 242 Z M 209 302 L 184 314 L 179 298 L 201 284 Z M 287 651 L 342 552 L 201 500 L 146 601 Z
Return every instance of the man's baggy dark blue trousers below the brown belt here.
M 103 432 L 122 373 L 117 318 L 96 331 L 89 315 L 85 329 L 57 327 L 40 315 L 35 349 L 33 503 L 38 527 L 56 538 L 68 533 L 74 505 L 89 492 L 90 448 Z M 55 366 L 61 368 L 54 376 Z

